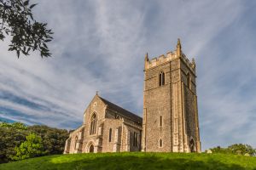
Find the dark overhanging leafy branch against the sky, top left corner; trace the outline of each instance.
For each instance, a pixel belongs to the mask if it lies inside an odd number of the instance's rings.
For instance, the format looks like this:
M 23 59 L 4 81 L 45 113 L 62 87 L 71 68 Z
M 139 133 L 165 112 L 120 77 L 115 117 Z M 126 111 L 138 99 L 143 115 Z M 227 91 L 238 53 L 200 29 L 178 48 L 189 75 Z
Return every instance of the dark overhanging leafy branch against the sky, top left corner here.
M 46 43 L 52 40 L 53 32 L 33 18 L 36 5 L 29 0 L 0 0 L 0 40 L 12 37 L 9 51 L 16 51 L 18 58 L 31 50 L 38 50 L 41 57 L 51 55 Z

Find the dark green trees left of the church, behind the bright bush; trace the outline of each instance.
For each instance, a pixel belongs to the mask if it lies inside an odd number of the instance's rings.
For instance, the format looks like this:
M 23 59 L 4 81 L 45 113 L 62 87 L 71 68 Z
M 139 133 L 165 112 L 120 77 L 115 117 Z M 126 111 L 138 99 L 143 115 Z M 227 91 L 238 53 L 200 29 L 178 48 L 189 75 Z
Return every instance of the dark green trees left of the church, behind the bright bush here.
M 26 126 L 21 122 L 0 122 L 0 163 L 11 161 L 16 154 L 15 146 L 25 142 L 30 133 L 41 137 L 44 155 L 63 153 L 67 130 L 43 125 Z

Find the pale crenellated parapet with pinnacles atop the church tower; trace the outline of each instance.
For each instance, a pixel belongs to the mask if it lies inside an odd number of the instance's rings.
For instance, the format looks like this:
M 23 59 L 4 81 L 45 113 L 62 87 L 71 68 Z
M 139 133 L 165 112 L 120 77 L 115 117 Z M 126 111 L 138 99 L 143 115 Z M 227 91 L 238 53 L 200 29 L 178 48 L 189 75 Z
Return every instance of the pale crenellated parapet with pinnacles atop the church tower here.
M 159 57 L 155 57 L 153 59 L 148 59 L 148 54 L 146 54 L 144 70 L 146 71 L 148 69 L 154 68 L 155 66 L 162 65 L 175 59 L 182 59 L 185 65 L 187 65 L 188 68 L 195 73 L 195 59 L 192 59 L 190 62 L 186 55 L 183 54 L 179 39 L 177 40 L 177 48 L 173 52 L 168 52 L 166 55 L 162 54 Z

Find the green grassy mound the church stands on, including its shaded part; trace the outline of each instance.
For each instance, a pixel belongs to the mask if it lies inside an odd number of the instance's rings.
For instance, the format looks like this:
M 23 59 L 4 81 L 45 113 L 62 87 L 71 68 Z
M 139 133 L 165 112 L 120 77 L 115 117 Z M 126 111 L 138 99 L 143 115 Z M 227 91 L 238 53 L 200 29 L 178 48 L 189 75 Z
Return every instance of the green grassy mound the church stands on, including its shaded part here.
M 0 165 L 1 170 L 214 169 L 256 170 L 256 157 L 224 154 L 104 153 L 43 156 Z

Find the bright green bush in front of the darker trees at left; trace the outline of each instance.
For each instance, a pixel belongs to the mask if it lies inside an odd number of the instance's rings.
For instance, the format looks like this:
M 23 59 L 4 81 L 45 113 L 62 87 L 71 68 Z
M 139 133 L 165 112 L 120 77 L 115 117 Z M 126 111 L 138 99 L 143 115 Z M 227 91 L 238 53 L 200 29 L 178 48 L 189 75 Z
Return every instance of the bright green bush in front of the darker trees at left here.
M 30 133 L 26 136 L 26 141 L 15 147 L 16 155 L 13 160 L 24 160 L 27 158 L 44 155 L 42 139 L 35 133 Z

